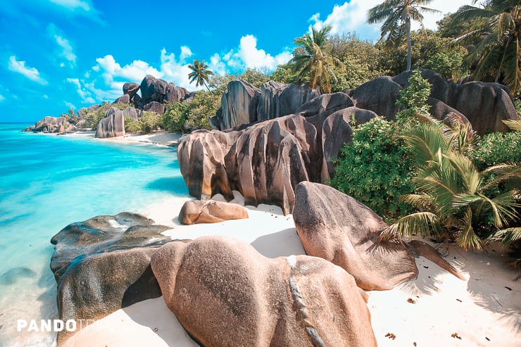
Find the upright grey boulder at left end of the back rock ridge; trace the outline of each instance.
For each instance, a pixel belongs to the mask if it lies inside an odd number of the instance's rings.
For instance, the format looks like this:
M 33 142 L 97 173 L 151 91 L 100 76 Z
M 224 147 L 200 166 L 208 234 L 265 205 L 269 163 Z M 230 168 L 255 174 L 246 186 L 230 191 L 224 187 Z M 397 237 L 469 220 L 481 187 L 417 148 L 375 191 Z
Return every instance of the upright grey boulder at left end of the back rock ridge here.
M 230 129 L 257 120 L 257 105 L 261 91 L 243 80 L 228 83 L 220 101 L 215 122 L 220 130 Z

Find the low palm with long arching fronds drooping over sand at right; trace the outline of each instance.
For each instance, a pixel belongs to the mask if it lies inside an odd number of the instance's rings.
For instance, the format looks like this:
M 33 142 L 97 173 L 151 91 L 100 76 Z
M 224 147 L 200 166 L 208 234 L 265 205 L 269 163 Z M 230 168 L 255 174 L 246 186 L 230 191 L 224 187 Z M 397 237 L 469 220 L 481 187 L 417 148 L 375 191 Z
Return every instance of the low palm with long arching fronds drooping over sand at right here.
M 496 165 L 479 172 L 465 156 L 473 139 L 467 126 L 458 123 L 451 129 L 439 122 L 425 122 L 410 126 L 401 137 L 417 168 L 413 177 L 416 194 L 401 199 L 420 212 L 398 219 L 382 238 L 436 234 L 455 239 L 465 250 L 479 251 L 484 246 L 484 235 L 491 234 L 484 228 L 505 229 L 510 222 L 519 220 L 516 194 L 521 166 Z M 485 179 L 491 173 L 494 179 Z M 502 192 L 492 194 L 500 184 Z

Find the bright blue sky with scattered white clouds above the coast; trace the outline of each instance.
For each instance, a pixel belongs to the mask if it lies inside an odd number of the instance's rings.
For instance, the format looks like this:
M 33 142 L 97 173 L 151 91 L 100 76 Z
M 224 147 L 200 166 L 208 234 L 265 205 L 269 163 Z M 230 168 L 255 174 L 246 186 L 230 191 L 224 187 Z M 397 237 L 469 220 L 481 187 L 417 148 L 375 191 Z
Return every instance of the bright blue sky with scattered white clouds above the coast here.
M 187 65 L 218 74 L 272 71 L 291 58 L 310 26 L 375 40 L 365 13 L 381 0 L 115 1 L 3 0 L 0 6 L 0 122 L 34 122 L 69 108 L 113 101 L 148 73 L 195 90 Z M 470 0 L 435 0 L 454 12 Z M 441 15 L 428 16 L 435 29 Z

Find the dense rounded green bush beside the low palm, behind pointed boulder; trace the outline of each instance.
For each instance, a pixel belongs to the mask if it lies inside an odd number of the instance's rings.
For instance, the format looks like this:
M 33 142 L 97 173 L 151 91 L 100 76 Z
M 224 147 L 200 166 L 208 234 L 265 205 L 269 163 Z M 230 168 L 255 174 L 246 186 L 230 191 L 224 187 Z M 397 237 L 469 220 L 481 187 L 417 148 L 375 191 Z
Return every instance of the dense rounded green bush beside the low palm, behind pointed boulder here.
M 395 124 L 382 117 L 356 127 L 353 141 L 341 149 L 330 182 L 387 220 L 410 212 L 398 196 L 413 192 L 410 157 L 395 131 Z

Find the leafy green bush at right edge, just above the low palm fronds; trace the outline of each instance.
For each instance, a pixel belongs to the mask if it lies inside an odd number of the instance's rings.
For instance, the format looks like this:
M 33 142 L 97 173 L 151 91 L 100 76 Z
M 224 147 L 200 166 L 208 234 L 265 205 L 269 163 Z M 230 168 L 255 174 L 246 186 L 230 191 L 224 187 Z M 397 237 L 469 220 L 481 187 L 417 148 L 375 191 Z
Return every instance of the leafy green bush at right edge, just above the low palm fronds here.
M 521 131 L 484 135 L 477 141 L 472 160 L 479 170 L 493 165 L 521 163 Z

